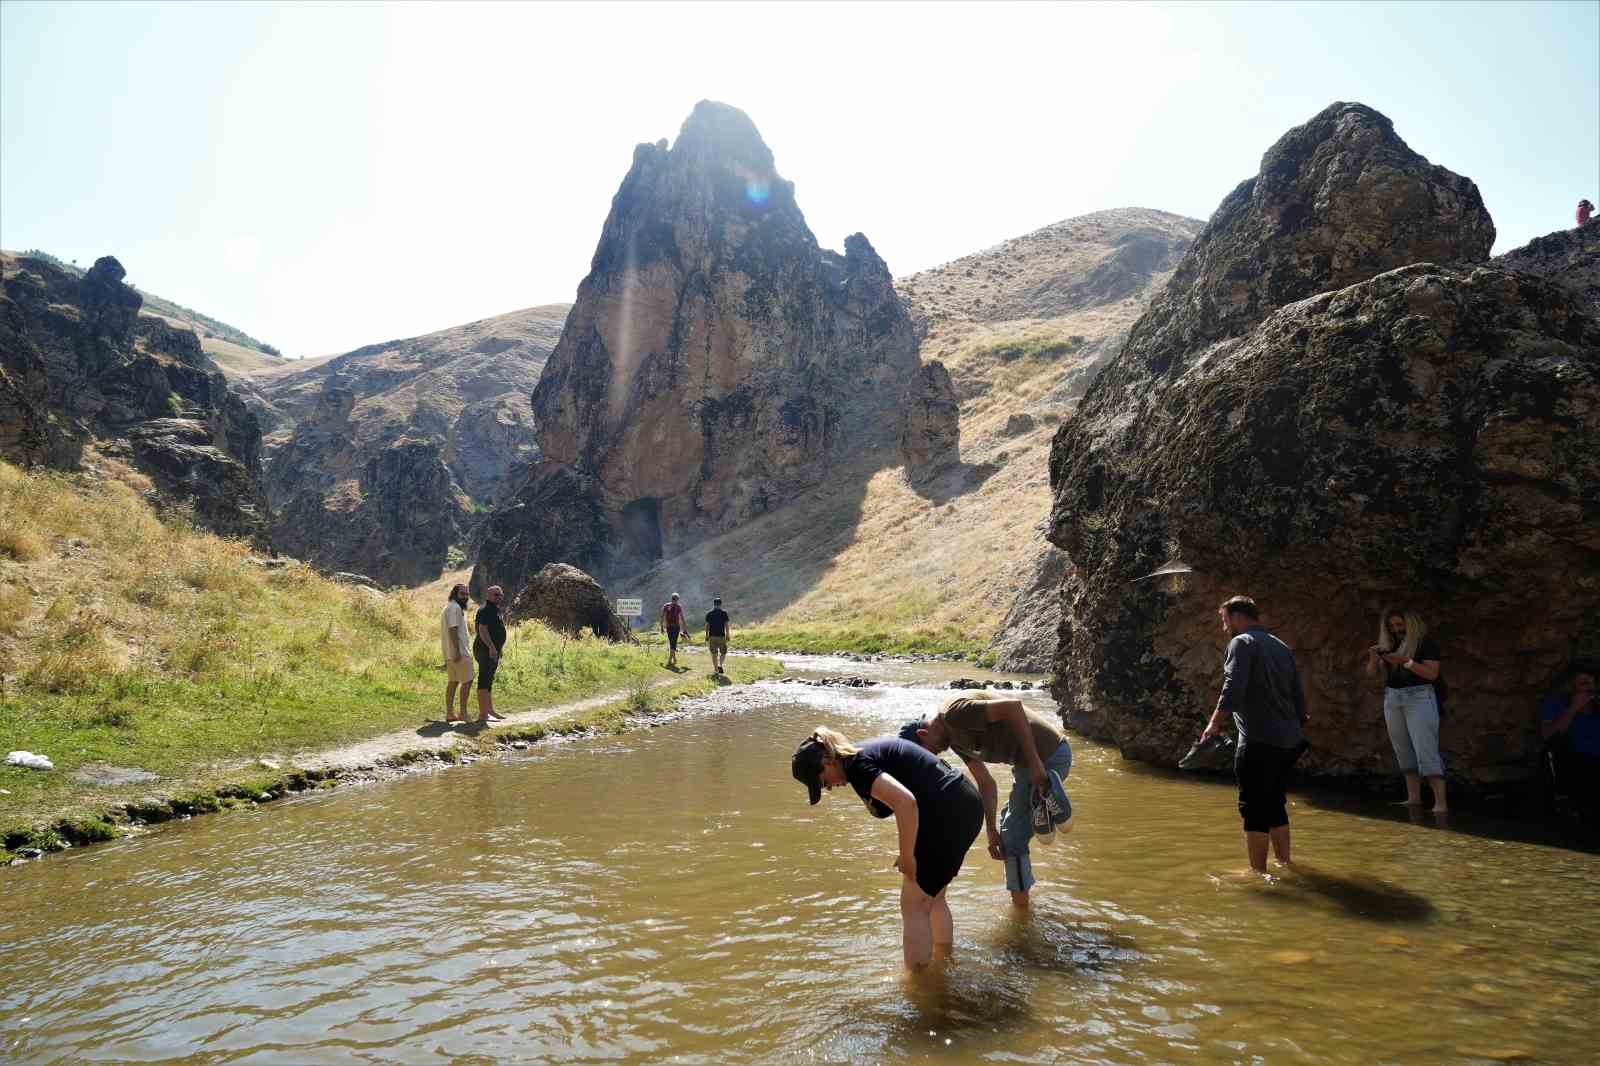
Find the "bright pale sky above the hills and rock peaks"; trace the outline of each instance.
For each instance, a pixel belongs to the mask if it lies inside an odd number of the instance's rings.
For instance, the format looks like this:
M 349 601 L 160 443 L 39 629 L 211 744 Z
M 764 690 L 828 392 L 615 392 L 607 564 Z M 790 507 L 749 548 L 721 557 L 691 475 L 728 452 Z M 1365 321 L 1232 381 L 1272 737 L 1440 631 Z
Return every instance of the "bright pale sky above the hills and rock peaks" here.
M 1496 251 L 1600 202 L 1597 0 L 0 0 L 0 246 L 347 351 L 571 299 L 634 144 L 702 98 L 898 275 L 1101 208 L 1206 218 L 1336 99 L 1474 178 Z

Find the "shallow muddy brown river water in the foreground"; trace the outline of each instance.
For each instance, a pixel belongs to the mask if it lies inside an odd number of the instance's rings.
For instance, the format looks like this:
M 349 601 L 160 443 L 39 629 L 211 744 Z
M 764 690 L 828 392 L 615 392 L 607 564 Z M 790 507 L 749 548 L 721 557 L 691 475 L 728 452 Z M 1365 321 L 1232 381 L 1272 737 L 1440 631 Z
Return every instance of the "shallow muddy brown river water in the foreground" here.
M 787 759 L 946 695 L 728 690 L 0 872 L 0 1058 L 1594 1061 L 1600 858 L 1296 795 L 1306 872 L 1251 882 L 1226 784 L 1082 739 L 1035 911 L 974 850 L 909 980 L 893 828 Z

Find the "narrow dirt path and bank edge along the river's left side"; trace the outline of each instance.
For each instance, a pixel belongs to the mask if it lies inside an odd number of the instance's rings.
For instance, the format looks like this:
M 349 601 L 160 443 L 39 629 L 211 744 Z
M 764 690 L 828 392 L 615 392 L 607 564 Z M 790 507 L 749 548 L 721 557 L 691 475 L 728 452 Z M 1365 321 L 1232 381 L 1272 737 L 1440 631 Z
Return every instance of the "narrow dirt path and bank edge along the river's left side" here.
M 69 847 L 112 840 L 130 828 L 248 808 L 339 784 L 437 770 L 528 747 L 555 736 L 622 733 L 670 717 L 683 699 L 781 672 L 782 666 L 773 659 L 746 656 L 730 661 L 722 677 L 690 671 L 590 699 L 502 709 L 506 719 L 488 728 L 477 723 L 446 727 L 434 720 L 416 730 L 398 730 L 355 744 L 302 752 L 286 762 L 261 757 L 242 765 L 197 768 L 184 778 L 181 787 L 138 799 L 107 800 L 85 795 L 78 799 L 78 810 L 72 815 L 53 821 L 13 824 L 0 831 L 0 866 Z

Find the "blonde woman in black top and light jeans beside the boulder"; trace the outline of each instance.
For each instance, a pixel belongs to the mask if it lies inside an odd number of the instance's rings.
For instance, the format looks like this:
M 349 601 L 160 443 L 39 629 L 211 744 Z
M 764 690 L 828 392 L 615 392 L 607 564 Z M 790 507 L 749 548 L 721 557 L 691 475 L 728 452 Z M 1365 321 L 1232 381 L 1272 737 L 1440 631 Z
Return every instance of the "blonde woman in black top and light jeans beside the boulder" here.
M 1427 635 L 1422 616 L 1386 608 L 1378 616 L 1378 643 L 1366 650 L 1366 674 L 1384 672 L 1384 723 L 1395 762 L 1405 775 L 1405 802 L 1422 805 L 1422 778 L 1434 792 L 1434 810 L 1445 810 L 1445 760 L 1438 754 L 1438 642 Z

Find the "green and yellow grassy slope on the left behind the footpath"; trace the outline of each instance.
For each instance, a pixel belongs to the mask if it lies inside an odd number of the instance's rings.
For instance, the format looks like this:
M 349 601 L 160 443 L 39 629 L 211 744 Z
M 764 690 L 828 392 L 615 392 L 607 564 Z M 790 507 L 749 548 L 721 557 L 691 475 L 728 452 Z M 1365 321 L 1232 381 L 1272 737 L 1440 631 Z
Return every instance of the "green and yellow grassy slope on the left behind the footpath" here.
M 56 763 L 0 767 L 0 836 L 437 714 L 438 597 L 262 568 L 240 544 L 162 522 L 139 488 L 126 472 L 88 480 L 0 463 L 0 736 Z M 664 675 L 650 648 L 525 624 L 496 695 L 522 709 Z M 96 787 L 72 776 L 88 763 L 162 781 Z

